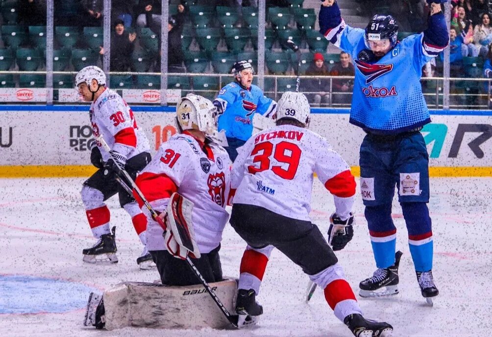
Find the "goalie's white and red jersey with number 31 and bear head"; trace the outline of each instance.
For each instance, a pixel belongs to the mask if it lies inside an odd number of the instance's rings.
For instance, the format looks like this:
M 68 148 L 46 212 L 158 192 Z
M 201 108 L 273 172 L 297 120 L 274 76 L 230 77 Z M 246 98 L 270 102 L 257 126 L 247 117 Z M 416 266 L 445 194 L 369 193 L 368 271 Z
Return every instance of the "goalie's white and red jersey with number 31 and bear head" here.
M 154 159 L 138 175 L 136 184 L 159 212 L 165 210 L 174 192 L 193 201 L 191 218 L 196 243 L 200 253 L 209 253 L 220 244 L 229 220 L 225 206 L 229 198 L 231 165 L 222 146 L 204 145 L 185 131 L 159 147 Z M 165 250 L 162 228 L 154 222 L 147 208 L 140 206 L 148 219 L 147 248 Z

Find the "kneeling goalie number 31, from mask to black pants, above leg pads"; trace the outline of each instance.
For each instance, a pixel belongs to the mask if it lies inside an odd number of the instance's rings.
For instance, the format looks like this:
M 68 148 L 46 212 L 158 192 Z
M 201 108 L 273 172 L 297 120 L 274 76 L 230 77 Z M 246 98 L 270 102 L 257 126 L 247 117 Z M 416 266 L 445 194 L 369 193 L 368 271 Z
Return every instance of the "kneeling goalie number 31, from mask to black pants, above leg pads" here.
M 198 254 L 191 254 L 153 219 L 147 208 L 147 246 L 167 285 L 199 284 L 184 258 L 189 257 L 207 282 L 222 281 L 219 250 L 222 231 L 229 218 L 225 206 L 230 190 L 231 161 L 217 133 L 217 110 L 202 96 L 188 94 L 176 111 L 180 134 L 161 144 L 152 162 L 138 175 L 136 184 L 161 219 L 175 193 L 193 203 L 178 208 L 180 222 L 194 229 Z M 174 200 L 174 198 L 173 198 Z M 143 204 L 140 204 L 142 207 Z M 178 206 L 176 206 L 178 207 Z M 169 224 L 169 219 L 166 219 Z M 200 255 L 199 258 L 196 255 Z M 176 258 L 178 257 L 178 258 Z

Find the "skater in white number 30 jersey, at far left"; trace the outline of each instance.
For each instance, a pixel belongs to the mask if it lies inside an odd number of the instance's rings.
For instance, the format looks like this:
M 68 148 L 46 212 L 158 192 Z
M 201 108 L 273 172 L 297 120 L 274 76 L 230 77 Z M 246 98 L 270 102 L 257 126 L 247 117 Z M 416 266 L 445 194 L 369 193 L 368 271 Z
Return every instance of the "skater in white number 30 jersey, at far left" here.
M 106 87 L 106 75 L 100 68 L 88 66 L 80 70 L 75 77 L 75 85 L 82 99 L 92 102 L 89 118 L 94 137 L 101 136 L 112 152 L 110 155 L 104 151 L 97 141 L 91 145 L 91 162 L 98 170 L 84 182 L 81 196 L 92 234 L 98 241 L 93 247 L 83 250 L 83 261 L 118 262 L 115 228 L 111 233 L 110 212 L 104 202 L 118 193 L 120 205 L 130 215 L 144 245 L 137 263 L 141 269 L 155 267 L 146 247 L 147 219 L 133 196 L 117 182 L 115 167 L 116 160 L 135 179 L 137 172 L 151 161 L 149 141 L 123 98 Z

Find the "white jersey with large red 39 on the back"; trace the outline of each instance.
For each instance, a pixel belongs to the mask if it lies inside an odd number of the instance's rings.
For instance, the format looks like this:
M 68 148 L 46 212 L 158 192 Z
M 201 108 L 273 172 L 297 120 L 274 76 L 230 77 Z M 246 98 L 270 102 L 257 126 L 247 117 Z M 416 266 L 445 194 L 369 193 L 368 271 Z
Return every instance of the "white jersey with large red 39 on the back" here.
M 334 195 L 336 213 L 346 219 L 355 195 L 347 163 L 326 139 L 305 128 L 279 125 L 253 135 L 238 148 L 231 187 L 234 203 L 264 207 L 309 221 L 313 173 Z

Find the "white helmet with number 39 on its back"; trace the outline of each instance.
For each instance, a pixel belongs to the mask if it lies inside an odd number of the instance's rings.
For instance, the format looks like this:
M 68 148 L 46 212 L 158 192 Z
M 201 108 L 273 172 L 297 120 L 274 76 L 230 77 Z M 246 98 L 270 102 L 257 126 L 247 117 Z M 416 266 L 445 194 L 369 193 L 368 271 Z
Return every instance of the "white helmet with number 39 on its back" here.
M 276 121 L 282 118 L 295 119 L 304 125 L 309 124 L 311 108 L 302 92 L 286 91 L 277 103 Z

